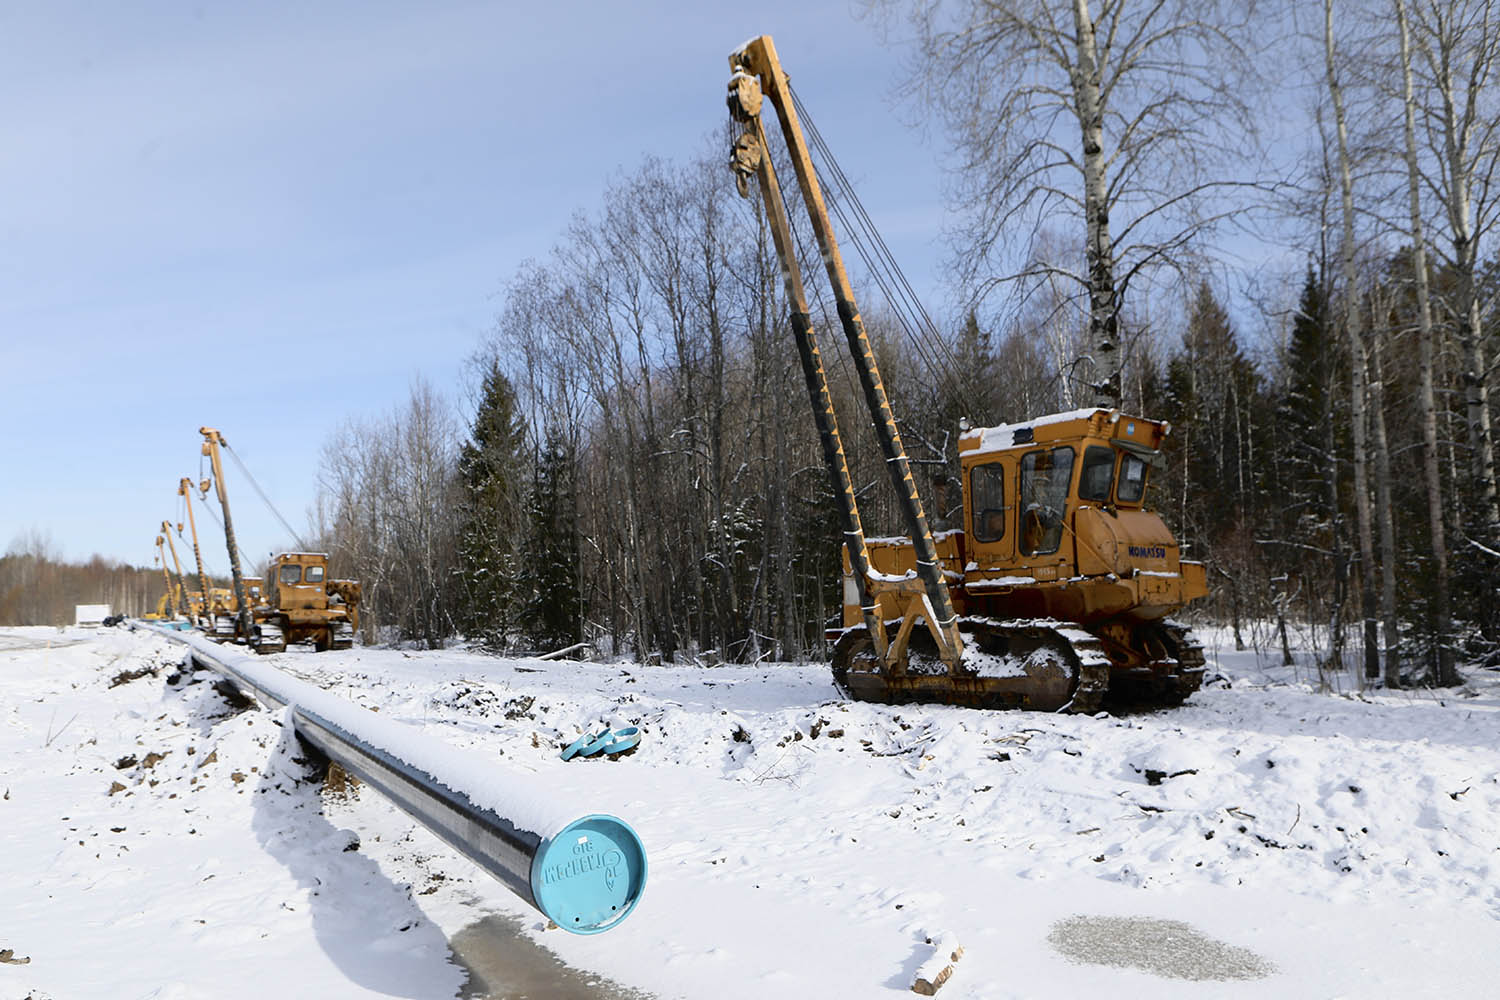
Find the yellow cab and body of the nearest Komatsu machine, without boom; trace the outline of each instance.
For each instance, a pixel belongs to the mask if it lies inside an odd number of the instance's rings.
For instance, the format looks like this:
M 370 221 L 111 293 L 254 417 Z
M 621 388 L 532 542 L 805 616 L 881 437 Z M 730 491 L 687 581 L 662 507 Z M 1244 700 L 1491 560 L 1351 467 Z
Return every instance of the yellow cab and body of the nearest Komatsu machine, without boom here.
M 1202 654 L 1166 619 L 1208 592 L 1204 568 L 1144 507 L 1168 430 L 1098 408 L 964 432 L 963 522 L 933 535 L 962 619 L 1077 624 L 1108 658 L 1106 687 L 1166 702 L 1196 690 Z M 867 546 L 879 615 L 904 621 L 921 598 L 902 586 L 916 576 L 916 549 L 903 537 Z M 844 574 L 843 625 L 856 630 L 848 552 Z

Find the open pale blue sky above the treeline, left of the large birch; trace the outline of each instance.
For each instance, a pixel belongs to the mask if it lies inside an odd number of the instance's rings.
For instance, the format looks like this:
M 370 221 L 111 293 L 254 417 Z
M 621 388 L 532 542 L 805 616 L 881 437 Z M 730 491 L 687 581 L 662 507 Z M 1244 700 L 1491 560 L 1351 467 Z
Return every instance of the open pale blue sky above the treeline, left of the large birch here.
M 0 7 L 0 546 L 38 529 L 150 564 L 201 424 L 302 528 L 328 435 L 417 375 L 458 396 L 516 267 L 610 177 L 708 150 L 726 55 L 759 33 L 936 292 L 936 144 L 903 124 L 903 49 L 858 10 Z M 242 547 L 286 541 L 226 478 Z

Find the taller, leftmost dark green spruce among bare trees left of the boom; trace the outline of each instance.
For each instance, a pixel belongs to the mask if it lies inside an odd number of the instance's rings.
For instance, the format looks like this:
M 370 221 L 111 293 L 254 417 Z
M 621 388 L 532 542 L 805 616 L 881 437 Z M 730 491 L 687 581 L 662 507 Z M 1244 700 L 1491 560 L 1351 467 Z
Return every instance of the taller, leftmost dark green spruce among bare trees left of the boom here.
M 471 639 L 498 646 L 513 631 L 516 540 L 525 493 L 526 424 L 510 379 L 490 364 L 474 414 L 471 439 L 459 450 L 460 627 Z

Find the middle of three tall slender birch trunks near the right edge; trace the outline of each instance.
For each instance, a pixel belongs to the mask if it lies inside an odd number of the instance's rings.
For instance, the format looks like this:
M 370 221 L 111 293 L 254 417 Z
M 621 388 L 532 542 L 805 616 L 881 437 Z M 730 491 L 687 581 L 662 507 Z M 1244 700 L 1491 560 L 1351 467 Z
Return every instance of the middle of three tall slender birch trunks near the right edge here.
M 1412 30 L 1406 0 L 1395 0 L 1401 30 L 1401 102 L 1406 127 L 1407 208 L 1410 213 L 1412 273 L 1418 310 L 1418 406 L 1422 412 L 1422 478 L 1426 484 L 1428 544 L 1432 549 L 1432 642 L 1437 646 L 1440 685 L 1456 682 L 1449 646 L 1452 618 L 1448 597 L 1448 540 L 1443 525 L 1443 477 L 1437 451 L 1437 393 L 1432 387 L 1432 297 L 1426 276 L 1426 237 L 1422 231 L 1422 189 L 1416 160 L 1416 96 L 1412 85 Z M 1388 667 L 1389 673 L 1389 667 Z

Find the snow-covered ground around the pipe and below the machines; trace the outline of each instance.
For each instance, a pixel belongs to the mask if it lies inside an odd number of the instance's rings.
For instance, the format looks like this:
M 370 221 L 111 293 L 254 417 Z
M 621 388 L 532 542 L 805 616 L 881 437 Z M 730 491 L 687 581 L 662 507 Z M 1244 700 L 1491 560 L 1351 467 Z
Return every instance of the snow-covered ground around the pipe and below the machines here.
M 820 666 L 270 658 L 628 820 L 645 897 L 578 937 L 320 795 L 276 715 L 168 681 L 182 646 L 3 630 L 0 997 L 896 997 L 928 937 L 948 1000 L 1497 996 L 1500 675 L 1330 696 L 1208 639 L 1227 685 L 1122 718 L 844 703 Z M 558 759 L 602 723 L 640 748 Z

